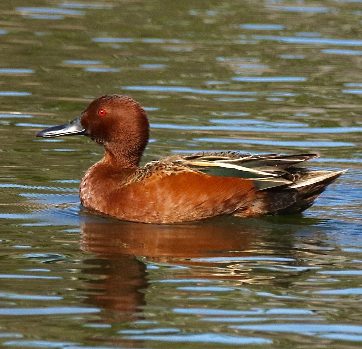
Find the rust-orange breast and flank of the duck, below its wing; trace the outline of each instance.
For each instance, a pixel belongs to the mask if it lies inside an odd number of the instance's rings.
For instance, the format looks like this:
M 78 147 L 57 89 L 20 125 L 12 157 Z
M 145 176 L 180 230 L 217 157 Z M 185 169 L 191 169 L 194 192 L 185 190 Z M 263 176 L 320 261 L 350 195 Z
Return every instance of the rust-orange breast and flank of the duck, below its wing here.
M 247 179 L 155 170 L 130 181 L 134 173 L 109 176 L 109 167 L 98 163 L 88 170 L 80 185 L 80 199 L 85 207 L 122 220 L 168 223 L 231 214 L 248 208 L 256 192 Z

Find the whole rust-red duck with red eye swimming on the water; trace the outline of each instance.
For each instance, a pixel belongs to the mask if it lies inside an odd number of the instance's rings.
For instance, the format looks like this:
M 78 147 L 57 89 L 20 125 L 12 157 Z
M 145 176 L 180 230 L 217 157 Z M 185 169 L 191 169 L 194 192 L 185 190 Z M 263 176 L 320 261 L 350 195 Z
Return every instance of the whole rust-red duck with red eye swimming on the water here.
M 80 203 L 131 222 L 298 214 L 346 171 L 299 166 L 317 154 L 237 151 L 173 154 L 140 166 L 149 132 L 144 108 L 114 94 L 94 99 L 78 118 L 43 129 L 37 137 L 84 135 L 104 146 L 103 158 L 81 180 Z

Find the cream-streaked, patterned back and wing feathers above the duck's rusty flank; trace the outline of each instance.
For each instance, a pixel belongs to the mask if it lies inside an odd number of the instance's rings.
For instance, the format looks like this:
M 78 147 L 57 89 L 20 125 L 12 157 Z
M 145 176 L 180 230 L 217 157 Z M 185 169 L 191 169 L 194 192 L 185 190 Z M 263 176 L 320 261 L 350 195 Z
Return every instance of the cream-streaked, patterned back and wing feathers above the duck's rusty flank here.
M 230 152 L 201 152 L 177 154 L 147 163 L 140 169 L 140 177 L 155 172 L 164 175 L 198 172 L 221 177 L 250 179 L 258 190 L 273 187 L 299 188 L 340 175 L 333 171 L 310 171 L 295 165 L 317 158 L 317 154 L 245 154 Z

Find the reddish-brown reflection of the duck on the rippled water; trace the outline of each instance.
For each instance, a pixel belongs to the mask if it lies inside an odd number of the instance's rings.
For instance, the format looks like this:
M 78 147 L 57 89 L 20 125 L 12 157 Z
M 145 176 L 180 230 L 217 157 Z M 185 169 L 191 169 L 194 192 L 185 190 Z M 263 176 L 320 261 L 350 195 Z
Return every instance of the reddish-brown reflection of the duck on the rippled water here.
M 91 290 L 87 302 L 127 319 L 141 318 L 148 287 L 146 265 L 177 265 L 182 279 L 227 279 L 239 284 L 268 282 L 273 276 L 250 275 L 240 258 L 270 253 L 266 237 L 280 227 L 260 220 L 212 219 L 174 225 L 150 225 L 82 217 L 81 249 L 96 258 L 84 273 Z M 288 237 L 293 231 L 289 227 Z M 290 239 L 286 239 L 291 244 Z M 284 248 L 288 242 L 284 244 Z M 272 245 L 272 244 L 271 244 Z M 268 252 L 266 249 L 269 249 Z M 239 260 L 238 260 L 239 258 Z

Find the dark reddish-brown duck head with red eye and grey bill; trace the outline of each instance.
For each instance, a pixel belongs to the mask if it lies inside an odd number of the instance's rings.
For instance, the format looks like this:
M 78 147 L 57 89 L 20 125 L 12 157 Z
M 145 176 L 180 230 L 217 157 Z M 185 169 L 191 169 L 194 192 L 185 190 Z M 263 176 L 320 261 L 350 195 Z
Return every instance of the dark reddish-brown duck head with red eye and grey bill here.
M 138 102 L 122 95 L 104 95 L 94 99 L 78 118 L 46 128 L 37 137 L 85 135 L 103 145 L 114 162 L 134 167 L 146 148 L 148 134 L 147 114 Z

